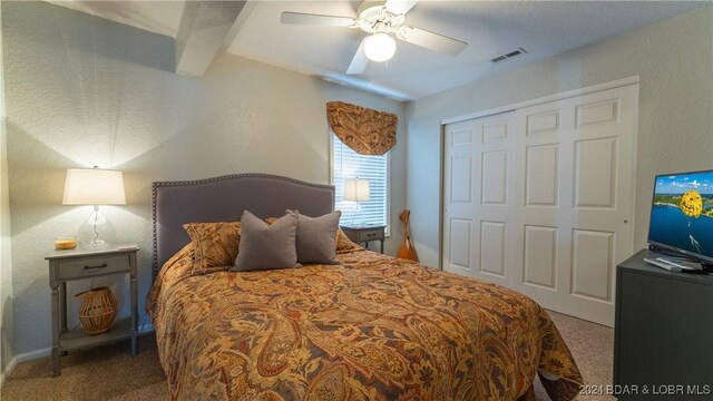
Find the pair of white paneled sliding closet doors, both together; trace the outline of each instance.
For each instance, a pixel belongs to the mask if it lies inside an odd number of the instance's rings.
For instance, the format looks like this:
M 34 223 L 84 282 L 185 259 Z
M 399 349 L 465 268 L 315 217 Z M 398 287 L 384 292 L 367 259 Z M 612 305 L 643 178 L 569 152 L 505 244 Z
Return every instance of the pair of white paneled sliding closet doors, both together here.
M 447 125 L 443 268 L 612 326 L 614 270 L 633 247 L 637 94 L 629 85 Z

